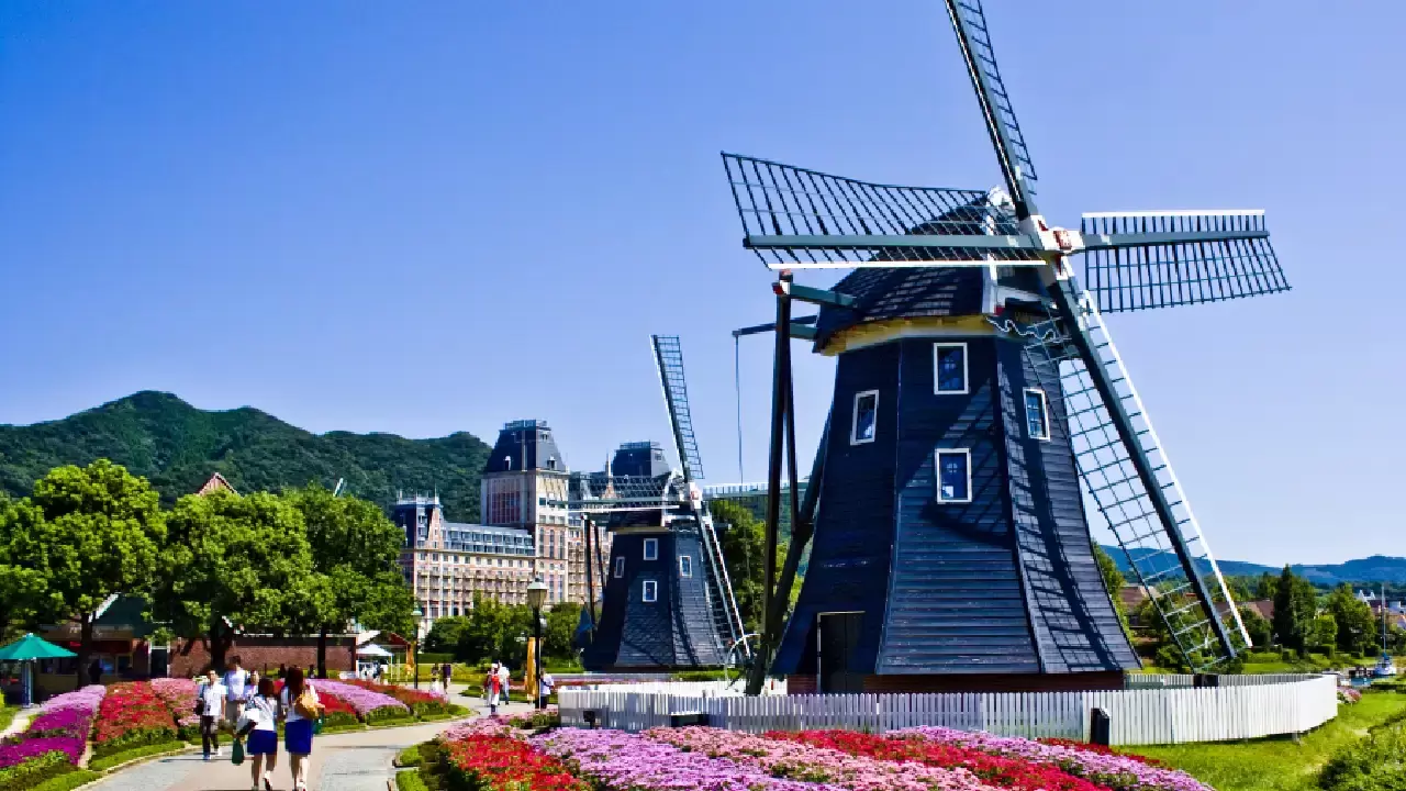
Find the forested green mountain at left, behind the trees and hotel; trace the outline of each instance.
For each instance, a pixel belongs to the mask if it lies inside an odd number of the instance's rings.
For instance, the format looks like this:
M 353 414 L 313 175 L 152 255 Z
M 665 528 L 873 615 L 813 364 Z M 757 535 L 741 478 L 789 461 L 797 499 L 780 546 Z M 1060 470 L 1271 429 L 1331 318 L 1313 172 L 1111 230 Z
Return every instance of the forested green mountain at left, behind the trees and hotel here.
M 250 407 L 205 411 L 170 393 L 142 391 L 60 421 L 0 425 L 0 490 L 22 497 L 59 464 L 111 459 L 146 476 L 174 502 L 212 473 L 239 491 L 346 479 L 389 505 L 396 490 L 439 490 L 450 519 L 478 519 L 478 479 L 492 449 L 467 432 L 437 439 L 394 434 L 311 434 Z

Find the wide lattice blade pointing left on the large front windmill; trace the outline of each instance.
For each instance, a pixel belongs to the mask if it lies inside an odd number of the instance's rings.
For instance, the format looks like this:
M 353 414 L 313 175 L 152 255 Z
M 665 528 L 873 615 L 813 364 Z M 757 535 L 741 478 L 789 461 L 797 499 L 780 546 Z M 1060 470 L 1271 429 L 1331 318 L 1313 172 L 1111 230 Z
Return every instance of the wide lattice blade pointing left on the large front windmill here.
M 770 269 L 1040 266 L 1001 194 L 873 184 L 723 155 L 744 245 Z

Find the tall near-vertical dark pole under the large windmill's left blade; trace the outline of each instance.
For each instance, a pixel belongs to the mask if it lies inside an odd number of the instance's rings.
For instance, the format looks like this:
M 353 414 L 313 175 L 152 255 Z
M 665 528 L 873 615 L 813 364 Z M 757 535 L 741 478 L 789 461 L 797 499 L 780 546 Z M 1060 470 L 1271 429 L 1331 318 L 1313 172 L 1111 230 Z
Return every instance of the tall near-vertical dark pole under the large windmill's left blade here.
M 782 510 L 782 455 L 786 442 L 786 411 L 787 380 L 790 369 L 790 297 L 783 289 L 792 281 L 790 272 L 780 273 L 780 281 L 773 286 L 776 291 L 776 352 L 772 370 L 772 436 L 770 457 L 766 469 L 766 543 L 762 567 L 765 569 L 762 583 L 762 640 L 756 657 L 752 663 L 752 673 L 747 680 L 747 694 L 759 695 L 762 684 L 766 683 L 766 670 L 772 660 L 772 597 L 776 594 L 776 532 L 780 522 Z

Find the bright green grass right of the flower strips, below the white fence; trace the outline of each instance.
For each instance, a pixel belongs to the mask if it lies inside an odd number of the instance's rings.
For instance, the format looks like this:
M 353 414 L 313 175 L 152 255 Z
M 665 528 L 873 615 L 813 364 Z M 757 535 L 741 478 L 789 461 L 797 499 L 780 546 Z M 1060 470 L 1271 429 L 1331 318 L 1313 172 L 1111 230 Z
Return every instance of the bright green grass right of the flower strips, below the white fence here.
M 1309 791 L 1317 788 L 1316 776 L 1336 750 L 1398 712 L 1406 712 L 1406 694 L 1372 692 L 1339 707 L 1336 719 L 1299 743 L 1258 739 L 1121 750 L 1164 760 L 1216 791 Z

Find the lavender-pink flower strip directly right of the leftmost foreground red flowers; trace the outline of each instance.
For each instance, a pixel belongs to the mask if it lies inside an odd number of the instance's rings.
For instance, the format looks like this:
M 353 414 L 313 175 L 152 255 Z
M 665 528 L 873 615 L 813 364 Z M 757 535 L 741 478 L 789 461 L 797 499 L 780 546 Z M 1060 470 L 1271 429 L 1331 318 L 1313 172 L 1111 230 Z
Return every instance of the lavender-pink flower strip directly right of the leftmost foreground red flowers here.
M 530 742 L 609 791 L 838 791 L 834 785 L 772 777 L 747 763 L 679 750 L 620 730 L 562 728 L 533 736 Z

